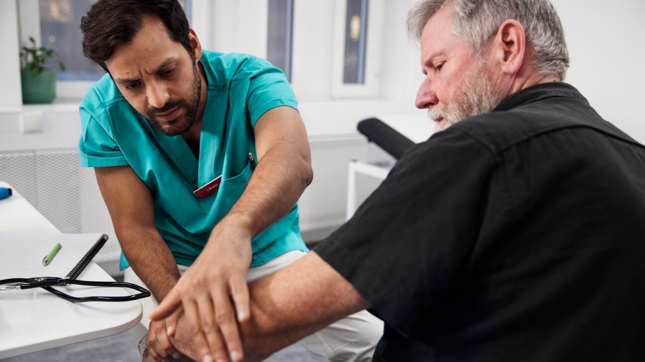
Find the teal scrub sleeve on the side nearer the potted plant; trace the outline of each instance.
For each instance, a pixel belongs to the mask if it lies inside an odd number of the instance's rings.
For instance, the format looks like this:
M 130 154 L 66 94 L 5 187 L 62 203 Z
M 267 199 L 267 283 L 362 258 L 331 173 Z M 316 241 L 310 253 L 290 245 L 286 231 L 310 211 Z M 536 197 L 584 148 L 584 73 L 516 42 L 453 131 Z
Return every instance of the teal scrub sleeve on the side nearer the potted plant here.
M 92 102 L 87 98 L 81 102 L 81 107 L 79 108 L 81 117 L 81 139 L 79 140 L 81 166 L 127 165 L 126 158 L 111 134 L 108 115 L 102 108 L 100 100 Z

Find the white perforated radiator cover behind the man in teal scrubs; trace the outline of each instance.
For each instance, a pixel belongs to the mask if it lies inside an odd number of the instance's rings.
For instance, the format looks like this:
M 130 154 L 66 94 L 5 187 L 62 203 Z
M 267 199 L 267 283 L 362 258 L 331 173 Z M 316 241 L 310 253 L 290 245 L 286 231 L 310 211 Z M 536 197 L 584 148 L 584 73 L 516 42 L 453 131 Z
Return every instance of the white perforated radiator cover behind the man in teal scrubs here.
M 300 225 L 316 242 L 342 224 L 347 196 L 347 165 L 366 160 L 361 135 L 311 137 L 313 182 L 299 200 Z M 92 168 L 81 167 L 76 148 L 0 151 L 0 180 L 8 182 L 63 233 L 110 236 L 94 261 L 118 275 L 121 253 Z

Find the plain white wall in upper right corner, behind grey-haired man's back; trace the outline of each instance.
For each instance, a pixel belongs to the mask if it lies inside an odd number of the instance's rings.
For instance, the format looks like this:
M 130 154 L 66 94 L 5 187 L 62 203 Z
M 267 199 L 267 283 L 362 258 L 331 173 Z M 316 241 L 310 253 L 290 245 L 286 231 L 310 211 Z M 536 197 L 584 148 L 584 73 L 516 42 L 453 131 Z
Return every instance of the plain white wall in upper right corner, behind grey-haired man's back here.
M 604 119 L 645 143 L 645 1 L 551 2 L 571 57 L 566 82 Z

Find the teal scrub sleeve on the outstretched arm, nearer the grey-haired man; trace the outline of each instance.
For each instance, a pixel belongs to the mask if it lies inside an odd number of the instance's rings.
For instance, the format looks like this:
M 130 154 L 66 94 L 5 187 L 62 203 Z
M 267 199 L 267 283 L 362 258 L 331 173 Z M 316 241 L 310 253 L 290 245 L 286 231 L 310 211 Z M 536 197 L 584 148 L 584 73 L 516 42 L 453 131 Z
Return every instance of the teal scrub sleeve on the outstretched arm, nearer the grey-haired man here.
M 284 73 L 270 62 L 261 58 L 249 58 L 233 77 L 233 82 L 248 82 L 246 108 L 251 126 L 266 111 L 279 106 L 298 110 L 298 102 Z M 246 88 L 246 84 L 244 84 Z

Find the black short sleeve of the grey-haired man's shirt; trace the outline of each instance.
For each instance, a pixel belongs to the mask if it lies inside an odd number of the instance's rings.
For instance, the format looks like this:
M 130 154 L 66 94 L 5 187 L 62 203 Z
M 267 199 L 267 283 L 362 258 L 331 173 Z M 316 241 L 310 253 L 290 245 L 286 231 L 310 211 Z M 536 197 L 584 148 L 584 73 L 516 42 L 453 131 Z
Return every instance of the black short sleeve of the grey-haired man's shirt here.
M 437 133 L 408 151 L 352 219 L 313 251 L 386 324 L 409 336 L 468 263 L 494 164 L 470 136 Z

